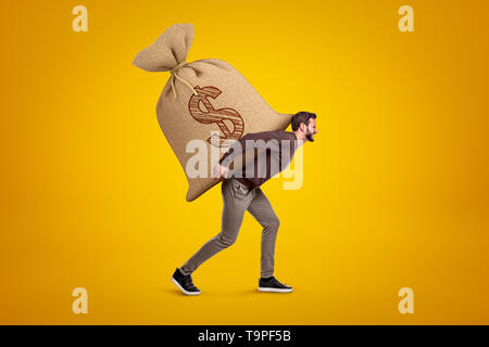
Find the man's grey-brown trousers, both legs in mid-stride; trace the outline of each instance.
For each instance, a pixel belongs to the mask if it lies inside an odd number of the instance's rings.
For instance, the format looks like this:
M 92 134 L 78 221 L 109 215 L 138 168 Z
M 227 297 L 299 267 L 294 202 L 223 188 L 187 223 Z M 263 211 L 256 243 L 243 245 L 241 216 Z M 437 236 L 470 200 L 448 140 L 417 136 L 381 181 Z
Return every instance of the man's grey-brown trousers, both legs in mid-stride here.
M 272 205 L 260 188 L 249 189 L 235 178 L 223 181 L 223 219 L 221 232 L 209 240 L 188 261 L 180 267 L 184 274 L 190 274 L 205 260 L 236 242 L 244 211 L 248 211 L 263 227 L 261 244 L 261 277 L 274 273 L 275 241 L 279 221 Z

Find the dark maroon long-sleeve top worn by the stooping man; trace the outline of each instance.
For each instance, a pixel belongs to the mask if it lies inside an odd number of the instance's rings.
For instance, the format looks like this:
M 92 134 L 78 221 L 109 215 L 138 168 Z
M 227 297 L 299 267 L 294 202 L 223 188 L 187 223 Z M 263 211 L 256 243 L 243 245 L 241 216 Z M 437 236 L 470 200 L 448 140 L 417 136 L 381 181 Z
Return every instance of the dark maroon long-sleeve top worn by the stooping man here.
M 235 170 L 233 176 L 252 189 L 287 168 L 298 146 L 293 132 L 272 130 L 247 133 L 229 147 L 220 164 L 227 167 L 235 158 L 241 158 L 241 169 Z M 237 163 L 239 160 L 235 165 Z

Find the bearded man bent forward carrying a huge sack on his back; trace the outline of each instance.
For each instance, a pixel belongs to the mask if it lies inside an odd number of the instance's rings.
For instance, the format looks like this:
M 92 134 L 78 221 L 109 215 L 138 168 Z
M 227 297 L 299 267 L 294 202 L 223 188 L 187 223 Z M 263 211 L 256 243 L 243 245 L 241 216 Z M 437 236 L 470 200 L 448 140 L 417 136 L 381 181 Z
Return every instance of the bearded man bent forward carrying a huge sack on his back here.
M 278 282 L 273 275 L 275 240 L 279 221 L 260 189 L 265 181 L 290 164 L 299 145 L 304 141 L 314 141 L 314 134 L 317 133 L 316 115 L 299 112 L 293 115 L 291 127 L 292 132 L 274 130 L 246 134 L 233 144 L 214 168 L 214 177 L 217 180 L 225 178 L 222 183 L 224 202 L 222 231 L 206 242 L 185 265 L 175 270 L 172 281 L 184 294 L 200 294 L 200 291 L 193 285 L 191 273 L 202 262 L 235 243 L 246 210 L 263 227 L 259 291 L 292 292 L 292 287 Z M 255 149 L 259 150 L 259 154 L 255 154 Z M 260 152 L 260 150 L 263 151 Z M 249 153 L 251 153 L 252 160 L 243 160 L 249 158 Z M 233 159 L 237 162 L 236 158 L 240 154 L 241 164 L 243 162 L 244 164 L 238 169 L 235 165 L 233 175 L 227 178 L 230 162 Z

